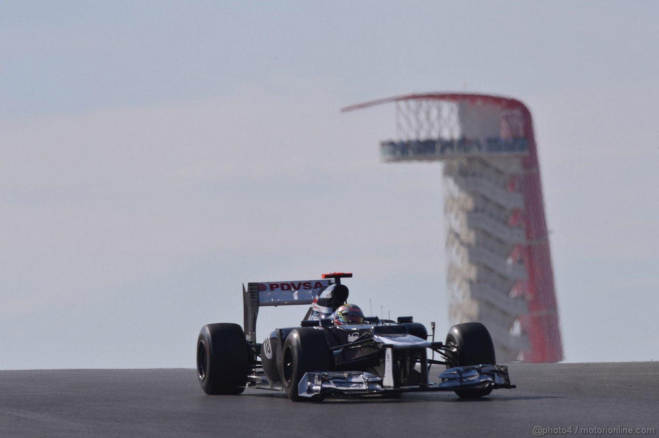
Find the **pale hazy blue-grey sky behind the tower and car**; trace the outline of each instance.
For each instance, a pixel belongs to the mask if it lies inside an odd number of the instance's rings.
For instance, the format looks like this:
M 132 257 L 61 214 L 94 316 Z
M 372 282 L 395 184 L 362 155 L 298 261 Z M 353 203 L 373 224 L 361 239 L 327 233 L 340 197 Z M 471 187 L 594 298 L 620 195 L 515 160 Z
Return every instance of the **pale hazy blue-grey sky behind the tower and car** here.
M 241 283 L 352 271 L 447 331 L 438 163 L 409 92 L 534 117 L 567 362 L 659 359 L 659 3 L 3 1 L 0 368 L 194 366 Z M 266 308 L 262 339 L 305 308 Z

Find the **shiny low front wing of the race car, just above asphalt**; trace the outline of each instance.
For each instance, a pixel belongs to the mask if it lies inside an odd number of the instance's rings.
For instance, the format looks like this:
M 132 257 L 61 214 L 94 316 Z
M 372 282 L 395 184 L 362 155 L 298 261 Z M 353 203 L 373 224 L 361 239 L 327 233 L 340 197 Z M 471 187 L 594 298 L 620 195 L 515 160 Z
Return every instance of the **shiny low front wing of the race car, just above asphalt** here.
M 299 384 L 300 397 L 323 398 L 328 395 L 375 395 L 413 391 L 453 391 L 469 388 L 515 388 L 510 384 L 508 368 L 503 365 L 455 367 L 439 375 L 440 383 L 413 387 L 387 387 L 382 377 L 364 371 L 316 371 L 305 373 Z

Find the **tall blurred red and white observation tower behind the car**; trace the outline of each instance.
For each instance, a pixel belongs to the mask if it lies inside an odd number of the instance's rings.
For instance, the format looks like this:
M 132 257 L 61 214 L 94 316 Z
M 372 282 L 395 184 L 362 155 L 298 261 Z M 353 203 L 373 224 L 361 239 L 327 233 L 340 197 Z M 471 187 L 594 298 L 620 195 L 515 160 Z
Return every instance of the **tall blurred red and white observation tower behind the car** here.
M 498 360 L 559 362 L 563 347 L 529 109 L 485 94 L 409 94 L 395 103 L 386 163 L 442 161 L 451 323 L 480 321 Z

